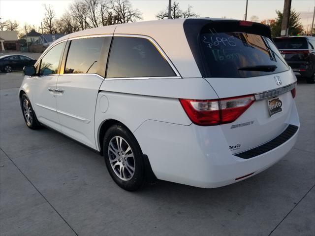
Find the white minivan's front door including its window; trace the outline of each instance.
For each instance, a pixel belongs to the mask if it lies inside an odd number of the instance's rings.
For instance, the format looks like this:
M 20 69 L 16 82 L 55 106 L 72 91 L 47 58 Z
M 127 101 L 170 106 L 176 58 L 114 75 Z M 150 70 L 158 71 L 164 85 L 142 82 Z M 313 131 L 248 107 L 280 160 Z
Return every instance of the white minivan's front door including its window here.
M 40 123 L 61 131 L 57 115 L 56 85 L 65 42 L 51 48 L 40 61 L 38 76 L 33 77 L 33 109 Z

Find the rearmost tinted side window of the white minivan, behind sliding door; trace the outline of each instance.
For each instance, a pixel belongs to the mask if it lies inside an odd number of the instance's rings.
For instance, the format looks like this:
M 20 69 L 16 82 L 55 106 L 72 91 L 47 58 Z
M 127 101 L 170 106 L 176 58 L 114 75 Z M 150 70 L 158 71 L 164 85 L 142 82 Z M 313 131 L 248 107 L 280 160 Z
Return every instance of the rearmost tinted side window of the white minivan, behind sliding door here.
M 146 38 L 113 39 L 107 78 L 176 76 L 158 49 Z

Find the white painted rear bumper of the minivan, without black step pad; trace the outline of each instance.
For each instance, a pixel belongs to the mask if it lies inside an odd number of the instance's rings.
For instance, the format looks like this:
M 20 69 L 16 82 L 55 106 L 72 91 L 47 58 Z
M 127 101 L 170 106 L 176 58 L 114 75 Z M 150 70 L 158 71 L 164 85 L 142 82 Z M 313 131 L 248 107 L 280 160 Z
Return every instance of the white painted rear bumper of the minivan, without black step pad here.
M 289 124 L 300 126 L 295 104 Z M 250 159 L 231 153 L 220 126 L 148 120 L 134 135 L 158 179 L 215 188 L 249 178 L 277 163 L 293 147 L 298 133 L 299 129 L 281 145 Z M 238 179 L 248 174 L 251 175 Z

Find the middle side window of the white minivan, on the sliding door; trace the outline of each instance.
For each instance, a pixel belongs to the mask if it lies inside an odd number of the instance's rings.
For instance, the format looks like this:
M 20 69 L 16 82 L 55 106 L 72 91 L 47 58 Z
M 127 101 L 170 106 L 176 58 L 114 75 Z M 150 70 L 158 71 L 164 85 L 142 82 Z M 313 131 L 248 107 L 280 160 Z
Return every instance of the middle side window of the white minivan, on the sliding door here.
M 71 40 L 64 73 L 96 73 L 103 37 Z

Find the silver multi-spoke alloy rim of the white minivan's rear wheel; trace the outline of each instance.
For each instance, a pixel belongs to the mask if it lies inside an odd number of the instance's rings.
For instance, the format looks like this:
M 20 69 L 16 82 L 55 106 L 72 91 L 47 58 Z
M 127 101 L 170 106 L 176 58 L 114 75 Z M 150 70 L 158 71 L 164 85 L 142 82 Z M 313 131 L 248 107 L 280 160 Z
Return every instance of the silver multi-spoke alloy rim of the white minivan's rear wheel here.
M 108 158 L 115 174 L 122 180 L 130 180 L 135 171 L 133 152 L 127 141 L 114 136 L 108 144 Z

